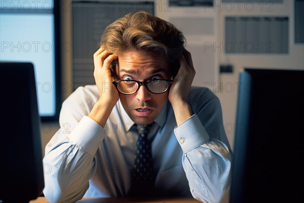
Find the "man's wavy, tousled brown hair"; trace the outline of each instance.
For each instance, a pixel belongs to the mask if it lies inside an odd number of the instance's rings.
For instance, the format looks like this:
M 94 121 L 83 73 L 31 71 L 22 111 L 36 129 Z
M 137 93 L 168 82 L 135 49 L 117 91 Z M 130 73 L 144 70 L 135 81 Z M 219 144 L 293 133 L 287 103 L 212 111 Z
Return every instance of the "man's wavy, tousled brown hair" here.
M 109 24 L 101 36 L 100 44 L 105 50 L 116 54 L 140 50 L 158 52 L 166 56 L 170 66 L 174 66 L 171 71 L 175 75 L 185 38 L 173 24 L 145 11 L 139 11 L 129 13 Z

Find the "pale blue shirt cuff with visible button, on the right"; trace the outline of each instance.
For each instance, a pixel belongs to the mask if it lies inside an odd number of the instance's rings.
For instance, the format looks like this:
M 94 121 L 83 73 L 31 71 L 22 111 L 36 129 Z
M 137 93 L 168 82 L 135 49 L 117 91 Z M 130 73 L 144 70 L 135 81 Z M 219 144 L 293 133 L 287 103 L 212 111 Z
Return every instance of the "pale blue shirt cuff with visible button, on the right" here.
M 210 139 L 199 117 L 194 114 L 174 128 L 175 137 L 184 153 L 202 145 Z

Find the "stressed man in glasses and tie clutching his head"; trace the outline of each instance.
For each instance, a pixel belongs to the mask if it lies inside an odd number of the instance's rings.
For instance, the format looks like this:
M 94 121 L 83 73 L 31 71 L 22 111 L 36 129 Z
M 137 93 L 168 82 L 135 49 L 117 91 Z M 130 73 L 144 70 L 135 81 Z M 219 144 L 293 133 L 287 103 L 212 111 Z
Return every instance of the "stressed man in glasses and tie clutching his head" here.
M 182 33 L 146 12 L 128 14 L 105 29 L 94 66 L 96 85 L 64 101 L 60 125 L 69 128 L 46 146 L 46 198 L 72 202 L 147 189 L 220 201 L 230 186 L 231 148 L 218 98 L 191 87 L 195 70 Z M 147 125 L 147 134 L 137 130 Z M 142 150 L 139 143 L 150 145 Z

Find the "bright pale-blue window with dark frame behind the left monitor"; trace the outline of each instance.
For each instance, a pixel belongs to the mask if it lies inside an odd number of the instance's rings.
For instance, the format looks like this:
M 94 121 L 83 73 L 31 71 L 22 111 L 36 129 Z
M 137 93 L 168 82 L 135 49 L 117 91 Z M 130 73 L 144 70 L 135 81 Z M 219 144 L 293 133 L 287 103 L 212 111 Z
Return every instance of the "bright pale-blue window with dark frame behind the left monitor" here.
M 60 54 L 70 51 L 67 42 L 60 42 L 60 13 L 70 12 L 69 4 L 0 1 L 0 61 L 33 63 L 42 121 L 58 121 L 61 92 L 70 89 L 60 81 Z

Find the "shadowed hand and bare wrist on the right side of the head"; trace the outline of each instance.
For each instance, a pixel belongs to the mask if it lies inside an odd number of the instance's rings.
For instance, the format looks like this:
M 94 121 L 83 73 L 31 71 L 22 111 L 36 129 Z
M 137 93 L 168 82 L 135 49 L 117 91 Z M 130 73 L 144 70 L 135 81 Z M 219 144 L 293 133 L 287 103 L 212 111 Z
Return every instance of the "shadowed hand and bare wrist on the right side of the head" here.
M 169 100 L 173 107 L 177 125 L 193 115 L 187 102 L 188 94 L 195 76 L 191 53 L 186 49 L 179 58 L 180 68 L 170 87 Z

